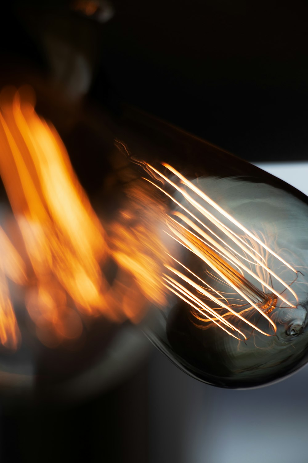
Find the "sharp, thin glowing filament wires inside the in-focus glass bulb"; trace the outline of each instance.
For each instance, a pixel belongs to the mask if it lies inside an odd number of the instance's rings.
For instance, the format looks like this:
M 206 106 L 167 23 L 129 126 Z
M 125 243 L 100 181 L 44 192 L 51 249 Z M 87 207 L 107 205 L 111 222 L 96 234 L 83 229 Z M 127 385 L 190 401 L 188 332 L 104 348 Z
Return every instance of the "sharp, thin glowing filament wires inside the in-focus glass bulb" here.
M 240 224 L 196 185 L 188 181 L 169 164 L 163 165 L 174 175 L 174 181 L 150 164 L 145 163 L 145 169 L 152 174 L 156 181 L 161 181 L 163 185 L 170 185 L 174 188 L 175 192 L 180 194 L 189 205 L 189 207 L 183 206 L 180 200 L 166 191 L 166 188 L 160 187 L 155 181 L 150 181 L 152 185 L 175 202 L 182 211 L 175 211 L 172 216 L 167 217 L 169 237 L 204 262 L 214 272 L 215 278 L 224 282 L 230 290 L 233 289 L 235 291 L 232 294 L 233 300 L 235 300 L 236 294 L 240 295 L 242 304 L 235 304 L 234 302 L 229 304 L 223 293 L 217 292 L 199 275 L 195 275 L 191 269 L 172 256 L 170 257 L 175 263 L 184 270 L 182 272 L 172 265 L 165 265 L 166 269 L 169 270 L 163 277 L 166 288 L 192 307 L 192 313 L 196 319 L 214 323 L 230 336 L 239 340 L 247 338 L 241 331 L 242 328 L 240 330 L 234 323 L 234 319 L 241 321 L 244 325 L 249 325 L 253 330 L 270 336 L 269 333 L 264 332 L 249 321 L 247 317 L 245 318 L 245 315 L 251 313 L 252 310 L 259 312 L 276 332 L 277 328 L 270 313 L 277 306 L 278 300 L 286 304 L 286 307 L 295 308 L 296 305 L 290 302 L 290 298 L 287 298 L 283 293 L 287 290 L 296 302 L 298 302 L 298 298 L 290 285 L 268 267 L 267 258 L 271 255 L 293 272 L 297 273 L 296 270 L 271 250 L 265 241 Z M 210 208 L 207 208 L 206 205 L 216 210 L 218 214 L 211 213 Z M 192 211 L 199 213 L 199 217 L 201 216 L 202 219 L 199 219 Z M 236 225 L 241 234 L 225 225 L 218 218 L 219 215 L 228 219 L 229 223 Z M 229 238 L 235 245 L 228 244 L 222 236 Z M 249 267 L 248 263 L 253 265 Z M 251 277 L 250 281 L 244 276 L 244 272 Z M 270 284 L 272 279 L 282 284 L 285 288 L 284 291 L 280 293 L 276 291 Z M 262 290 L 254 284 L 254 281 L 259 283 Z M 204 298 L 213 304 L 211 303 L 211 306 L 206 304 Z

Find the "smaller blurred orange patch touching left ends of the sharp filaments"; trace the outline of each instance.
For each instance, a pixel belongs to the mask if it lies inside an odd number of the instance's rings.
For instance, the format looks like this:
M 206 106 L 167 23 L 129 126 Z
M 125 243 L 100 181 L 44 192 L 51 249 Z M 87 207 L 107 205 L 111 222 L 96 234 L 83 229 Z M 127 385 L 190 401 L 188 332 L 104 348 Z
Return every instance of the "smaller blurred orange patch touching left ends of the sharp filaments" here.
M 170 262 L 163 229 L 166 210 L 155 190 L 145 181 L 127 188 L 129 203 L 109 231 L 110 248 L 121 268 L 134 275 L 142 293 L 154 303 L 166 304 L 162 282 Z

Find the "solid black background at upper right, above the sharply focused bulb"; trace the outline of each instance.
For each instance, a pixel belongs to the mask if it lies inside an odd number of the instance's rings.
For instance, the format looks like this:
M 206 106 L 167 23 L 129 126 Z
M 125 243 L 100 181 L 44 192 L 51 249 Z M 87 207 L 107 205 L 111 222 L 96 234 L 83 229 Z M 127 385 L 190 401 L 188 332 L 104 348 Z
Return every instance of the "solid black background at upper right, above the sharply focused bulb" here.
M 125 100 L 244 159 L 306 159 L 307 2 L 115 1 L 115 11 L 102 66 Z

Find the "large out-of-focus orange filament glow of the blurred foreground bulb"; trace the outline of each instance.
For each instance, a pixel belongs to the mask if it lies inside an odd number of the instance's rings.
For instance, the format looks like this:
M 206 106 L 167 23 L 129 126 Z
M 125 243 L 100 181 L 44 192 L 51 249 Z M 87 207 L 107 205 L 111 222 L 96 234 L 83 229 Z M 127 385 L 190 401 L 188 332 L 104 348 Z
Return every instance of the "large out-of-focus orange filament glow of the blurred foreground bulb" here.
M 36 114 L 34 100 L 30 89 L 0 94 L 0 175 L 22 240 L 14 247 L 0 229 L 0 342 L 13 348 L 18 325 L 6 277 L 24 286 L 37 337 L 49 347 L 78 338 L 85 315 L 139 321 L 145 297 L 163 301 L 156 249 L 151 256 L 140 249 L 148 234 L 144 222 L 134 230 L 116 224 L 112 257 L 121 268 L 109 287 L 101 271 L 111 255 L 103 227 L 57 131 Z

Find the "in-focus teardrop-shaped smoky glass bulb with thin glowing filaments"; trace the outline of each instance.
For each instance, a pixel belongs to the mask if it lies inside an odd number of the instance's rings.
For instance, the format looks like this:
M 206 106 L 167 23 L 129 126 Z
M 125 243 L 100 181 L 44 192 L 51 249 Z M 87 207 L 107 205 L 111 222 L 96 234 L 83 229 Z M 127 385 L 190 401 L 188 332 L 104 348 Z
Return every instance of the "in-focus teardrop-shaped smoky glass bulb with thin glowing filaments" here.
M 157 233 L 168 249 L 168 303 L 148 337 L 212 385 L 291 374 L 308 361 L 306 196 L 174 127 L 143 124 L 138 143 L 126 132 L 126 150 L 145 159 L 146 180 L 164 198 Z

